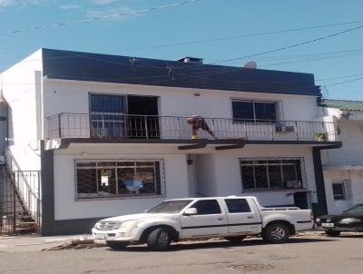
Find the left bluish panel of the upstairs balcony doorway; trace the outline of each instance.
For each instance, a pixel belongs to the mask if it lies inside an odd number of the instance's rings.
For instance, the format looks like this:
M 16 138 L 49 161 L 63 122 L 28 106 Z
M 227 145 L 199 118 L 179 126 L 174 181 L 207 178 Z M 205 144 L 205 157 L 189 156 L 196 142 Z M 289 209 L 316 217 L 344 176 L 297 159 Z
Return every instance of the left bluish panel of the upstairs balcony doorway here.
M 125 137 L 125 96 L 91 94 L 91 138 Z

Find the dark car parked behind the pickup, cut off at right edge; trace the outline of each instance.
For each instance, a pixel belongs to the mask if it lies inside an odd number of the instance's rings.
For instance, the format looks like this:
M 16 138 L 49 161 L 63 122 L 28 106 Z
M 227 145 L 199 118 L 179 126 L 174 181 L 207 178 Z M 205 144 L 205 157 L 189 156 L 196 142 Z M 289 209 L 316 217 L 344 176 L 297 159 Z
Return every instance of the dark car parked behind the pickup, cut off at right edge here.
M 343 231 L 363 232 L 363 204 L 357 204 L 338 215 L 321 216 L 317 224 L 330 237 L 338 237 Z

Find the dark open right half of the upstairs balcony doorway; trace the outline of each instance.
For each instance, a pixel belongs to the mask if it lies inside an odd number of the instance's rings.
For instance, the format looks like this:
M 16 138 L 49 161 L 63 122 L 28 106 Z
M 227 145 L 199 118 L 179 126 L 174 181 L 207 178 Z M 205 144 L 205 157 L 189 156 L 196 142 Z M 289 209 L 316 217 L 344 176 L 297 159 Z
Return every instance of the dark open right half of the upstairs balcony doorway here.
M 129 137 L 159 139 L 158 97 L 127 96 Z

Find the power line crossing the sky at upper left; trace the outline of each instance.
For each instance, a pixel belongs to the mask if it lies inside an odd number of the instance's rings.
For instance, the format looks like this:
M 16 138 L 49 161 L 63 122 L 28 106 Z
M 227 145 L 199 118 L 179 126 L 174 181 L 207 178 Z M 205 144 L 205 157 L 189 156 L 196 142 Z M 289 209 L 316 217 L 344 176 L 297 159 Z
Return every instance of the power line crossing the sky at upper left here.
M 25 32 L 30 32 L 30 31 L 40 30 L 40 29 L 47 29 L 47 28 L 58 27 L 58 26 L 64 26 L 64 25 L 70 25 L 70 24 L 81 24 L 81 23 L 88 23 L 88 22 L 94 22 L 94 21 L 111 20 L 111 19 L 114 19 L 114 18 L 123 17 L 125 15 L 145 14 L 145 13 L 149 13 L 149 12 L 153 12 L 153 11 L 157 11 L 157 10 L 162 10 L 162 9 L 165 9 L 165 8 L 170 8 L 170 7 L 174 7 L 174 6 L 178 6 L 178 5 L 188 5 L 188 4 L 195 3 L 195 2 L 200 2 L 200 1 L 202 1 L 202 0 L 186 0 L 186 1 L 179 2 L 179 3 L 154 6 L 154 7 L 150 7 L 150 8 L 134 10 L 134 11 L 130 11 L 130 12 L 124 12 L 124 13 L 120 13 L 120 14 L 116 14 L 116 15 L 104 15 L 104 16 L 99 16 L 99 17 L 85 18 L 85 19 L 79 19 L 79 20 L 68 21 L 68 22 L 37 25 L 37 26 L 25 28 L 25 29 L 3 32 L 3 33 L 0 33 L 0 35 L 4 35 L 4 34 L 21 34 L 21 33 L 25 33 Z

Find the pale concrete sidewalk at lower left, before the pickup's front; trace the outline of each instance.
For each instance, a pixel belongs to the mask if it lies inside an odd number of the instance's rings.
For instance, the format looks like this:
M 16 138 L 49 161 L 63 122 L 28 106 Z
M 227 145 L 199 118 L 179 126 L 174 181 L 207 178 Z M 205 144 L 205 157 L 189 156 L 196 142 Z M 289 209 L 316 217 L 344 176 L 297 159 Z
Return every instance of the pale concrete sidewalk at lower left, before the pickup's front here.
M 69 236 L 41 236 L 38 234 L 0 237 L 0 254 L 12 252 L 33 252 L 53 248 L 66 240 L 88 240 L 91 234 Z

